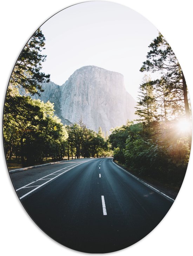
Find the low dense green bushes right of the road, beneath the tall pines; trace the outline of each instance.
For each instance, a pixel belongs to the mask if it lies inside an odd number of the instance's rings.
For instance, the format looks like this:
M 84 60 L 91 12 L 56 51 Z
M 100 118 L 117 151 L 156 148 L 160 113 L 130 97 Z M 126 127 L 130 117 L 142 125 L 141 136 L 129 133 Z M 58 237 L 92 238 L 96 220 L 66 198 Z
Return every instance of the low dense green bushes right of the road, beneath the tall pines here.
M 189 146 L 186 133 L 179 133 L 173 122 L 149 132 L 145 123 L 117 127 L 109 136 L 114 159 L 146 176 L 181 185 L 188 160 Z

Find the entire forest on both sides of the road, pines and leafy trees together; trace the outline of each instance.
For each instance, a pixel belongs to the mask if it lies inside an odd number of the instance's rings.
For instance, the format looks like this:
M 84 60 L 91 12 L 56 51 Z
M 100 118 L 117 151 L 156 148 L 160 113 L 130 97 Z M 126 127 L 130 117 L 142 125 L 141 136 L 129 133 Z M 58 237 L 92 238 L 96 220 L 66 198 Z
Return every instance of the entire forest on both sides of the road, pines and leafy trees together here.
M 46 56 L 45 37 L 38 29 L 21 52 L 9 81 L 4 107 L 4 147 L 7 162 L 22 167 L 43 161 L 113 156 L 135 174 L 181 184 L 191 149 L 191 110 L 180 64 L 159 33 L 149 45 L 141 72 L 136 120 L 115 127 L 105 136 L 101 127 L 92 131 L 83 123 L 63 125 L 51 102 L 22 95 L 40 94 L 39 83 L 48 82 L 41 72 Z M 153 80 L 151 74 L 158 74 Z

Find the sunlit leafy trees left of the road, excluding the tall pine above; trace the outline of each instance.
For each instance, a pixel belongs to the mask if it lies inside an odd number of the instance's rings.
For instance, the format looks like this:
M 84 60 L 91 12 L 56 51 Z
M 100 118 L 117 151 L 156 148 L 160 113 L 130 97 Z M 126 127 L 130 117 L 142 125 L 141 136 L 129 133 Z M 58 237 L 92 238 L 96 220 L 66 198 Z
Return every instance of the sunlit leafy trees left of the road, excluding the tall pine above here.
M 78 124 L 64 126 L 54 115 L 51 102 L 32 100 L 17 91 L 5 103 L 4 146 L 6 156 L 10 160 L 12 156 L 19 158 L 23 167 L 42 163 L 47 158 L 55 161 L 109 154 L 101 127 L 98 133 L 94 132 L 81 119 Z

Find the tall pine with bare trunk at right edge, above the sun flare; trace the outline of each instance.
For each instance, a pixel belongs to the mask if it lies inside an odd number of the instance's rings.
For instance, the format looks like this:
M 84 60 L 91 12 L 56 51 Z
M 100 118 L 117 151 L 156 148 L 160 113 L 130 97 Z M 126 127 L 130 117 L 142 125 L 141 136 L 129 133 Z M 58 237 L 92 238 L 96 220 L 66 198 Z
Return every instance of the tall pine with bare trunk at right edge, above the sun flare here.
M 158 37 L 153 40 L 149 45 L 149 48 L 150 51 L 146 56 L 147 60 L 143 62 L 140 71 L 151 71 L 161 74 L 161 78 L 154 81 L 154 85 L 157 84 L 157 89 L 158 86 L 163 88 L 161 100 L 164 102 L 165 121 L 167 122 L 169 117 L 169 114 L 167 113 L 168 109 L 171 118 L 176 118 L 176 114 L 179 115 L 180 112 L 182 116 L 185 113 L 186 125 L 188 126 L 188 144 L 189 148 L 191 148 L 192 132 L 187 85 L 180 64 L 173 50 L 161 33 L 159 33 Z M 159 99 L 160 98 L 159 95 Z

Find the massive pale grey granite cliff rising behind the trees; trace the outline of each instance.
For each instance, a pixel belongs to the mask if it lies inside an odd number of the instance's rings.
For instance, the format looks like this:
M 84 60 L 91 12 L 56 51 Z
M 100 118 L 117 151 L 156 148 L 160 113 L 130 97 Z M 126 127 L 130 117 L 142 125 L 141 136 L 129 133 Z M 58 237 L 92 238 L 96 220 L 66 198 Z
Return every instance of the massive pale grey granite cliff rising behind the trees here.
M 76 70 L 62 85 L 43 83 L 44 102 L 54 102 L 55 114 L 63 124 L 77 123 L 82 117 L 89 129 L 103 131 L 133 120 L 136 102 L 126 91 L 120 73 L 95 66 Z

